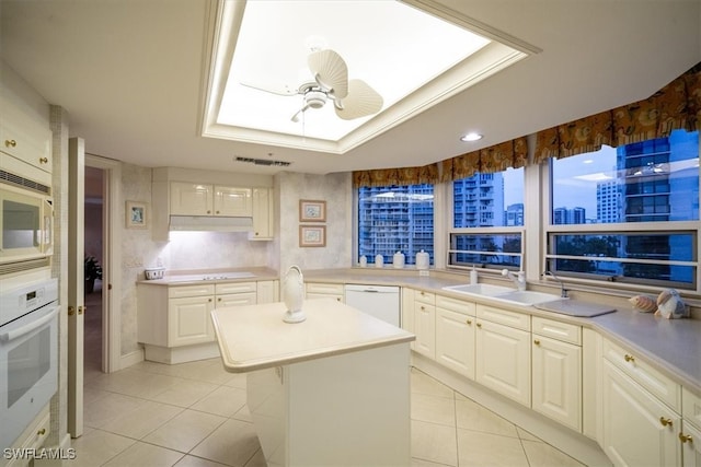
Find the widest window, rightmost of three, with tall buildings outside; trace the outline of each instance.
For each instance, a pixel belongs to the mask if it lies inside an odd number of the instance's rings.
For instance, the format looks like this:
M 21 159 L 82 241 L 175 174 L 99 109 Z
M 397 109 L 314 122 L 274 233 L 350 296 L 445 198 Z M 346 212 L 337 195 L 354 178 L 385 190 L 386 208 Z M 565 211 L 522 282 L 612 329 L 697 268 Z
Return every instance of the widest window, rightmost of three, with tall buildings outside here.
M 698 131 L 604 147 L 550 168 L 550 270 L 697 289 Z

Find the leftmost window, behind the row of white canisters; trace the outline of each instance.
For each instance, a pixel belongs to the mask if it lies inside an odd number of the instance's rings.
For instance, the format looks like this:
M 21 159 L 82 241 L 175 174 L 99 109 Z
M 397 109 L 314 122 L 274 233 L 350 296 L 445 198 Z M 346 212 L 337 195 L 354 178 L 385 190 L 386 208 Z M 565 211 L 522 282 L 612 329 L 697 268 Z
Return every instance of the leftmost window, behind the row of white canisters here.
M 375 262 L 382 255 L 392 261 L 402 252 L 405 264 L 416 253 L 428 253 L 434 264 L 434 187 L 409 185 L 358 188 L 358 255 Z

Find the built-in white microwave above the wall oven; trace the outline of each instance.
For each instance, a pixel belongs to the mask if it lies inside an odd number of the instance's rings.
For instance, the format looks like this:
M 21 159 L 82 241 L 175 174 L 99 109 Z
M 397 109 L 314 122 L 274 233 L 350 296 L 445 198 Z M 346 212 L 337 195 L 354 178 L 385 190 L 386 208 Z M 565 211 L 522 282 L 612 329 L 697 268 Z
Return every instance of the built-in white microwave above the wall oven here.
M 0 276 L 50 266 L 54 202 L 50 188 L 0 174 Z

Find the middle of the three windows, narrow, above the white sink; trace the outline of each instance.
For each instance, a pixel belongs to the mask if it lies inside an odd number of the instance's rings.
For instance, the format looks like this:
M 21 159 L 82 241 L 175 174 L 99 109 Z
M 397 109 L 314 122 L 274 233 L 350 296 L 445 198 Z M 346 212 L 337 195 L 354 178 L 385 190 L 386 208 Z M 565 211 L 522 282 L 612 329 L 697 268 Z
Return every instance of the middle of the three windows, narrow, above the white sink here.
M 455 180 L 448 266 L 520 269 L 524 214 L 522 168 Z

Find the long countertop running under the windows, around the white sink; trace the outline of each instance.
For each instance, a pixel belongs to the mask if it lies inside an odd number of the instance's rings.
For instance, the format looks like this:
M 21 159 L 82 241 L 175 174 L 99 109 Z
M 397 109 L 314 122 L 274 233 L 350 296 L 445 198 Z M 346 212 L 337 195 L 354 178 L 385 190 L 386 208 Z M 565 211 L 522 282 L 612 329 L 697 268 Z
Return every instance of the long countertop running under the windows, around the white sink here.
M 469 278 L 464 275 L 436 273 L 432 270 L 430 276 L 420 277 L 416 270 L 390 268 L 310 270 L 303 271 L 303 275 L 306 282 L 410 287 L 475 303 L 491 305 L 496 303 L 489 297 L 443 290 L 447 285 L 468 283 Z M 591 328 L 607 339 L 639 352 L 658 371 L 701 396 L 701 319 L 666 319 L 653 314 L 635 312 L 624 300 L 623 303 L 627 305 L 617 306 L 616 313 L 591 318 L 578 318 L 533 306 L 510 305 L 502 302 L 498 306 Z

